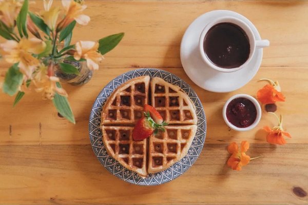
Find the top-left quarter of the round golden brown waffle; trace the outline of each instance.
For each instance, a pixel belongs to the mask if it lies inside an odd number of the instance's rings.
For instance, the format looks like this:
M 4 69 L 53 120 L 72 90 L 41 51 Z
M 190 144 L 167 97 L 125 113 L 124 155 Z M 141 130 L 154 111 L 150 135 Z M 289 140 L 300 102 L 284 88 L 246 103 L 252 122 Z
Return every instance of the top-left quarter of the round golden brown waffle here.
M 103 108 L 102 125 L 133 124 L 140 119 L 148 103 L 149 83 L 149 76 L 141 76 L 115 89 Z

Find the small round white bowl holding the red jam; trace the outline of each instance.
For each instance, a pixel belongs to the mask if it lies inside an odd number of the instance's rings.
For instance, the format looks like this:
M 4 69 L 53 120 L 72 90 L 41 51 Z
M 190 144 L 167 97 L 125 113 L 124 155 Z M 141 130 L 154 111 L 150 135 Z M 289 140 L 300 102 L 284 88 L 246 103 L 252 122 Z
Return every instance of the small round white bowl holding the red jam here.
M 234 126 L 231 122 L 228 121 L 227 115 L 226 115 L 226 113 L 227 113 L 227 106 L 229 105 L 230 101 L 232 101 L 235 98 L 239 98 L 239 97 L 243 97 L 243 98 L 251 100 L 252 103 L 255 105 L 255 107 L 257 109 L 256 120 L 254 121 L 254 123 L 252 125 L 250 125 L 250 126 L 248 126 L 246 128 L 238 128 L 238 127 Z M 231 129 L 236 130 L 236 131 L 248 131 L 248 130 L 251 130 L 251 129 L 255 128 L 259 124 L 259 121 L 261 119 L 261 112 L 262 112 L 262 110 L 261 110 L 260 104 L 258 103 L 258 101 L 254 97 L 252 97 L 251 95 L 246 95 L 246 94 L 237 94 L 237 95 L 234 95 L 234 96 L 230 97 L 226 101 L 226 103 L 225 103 L 225 105 L 224 105 L 224 107 L 222 109 L 222 116 L 223 116 L 223 119 L 225 120 L 227 126 L 229 126 Z

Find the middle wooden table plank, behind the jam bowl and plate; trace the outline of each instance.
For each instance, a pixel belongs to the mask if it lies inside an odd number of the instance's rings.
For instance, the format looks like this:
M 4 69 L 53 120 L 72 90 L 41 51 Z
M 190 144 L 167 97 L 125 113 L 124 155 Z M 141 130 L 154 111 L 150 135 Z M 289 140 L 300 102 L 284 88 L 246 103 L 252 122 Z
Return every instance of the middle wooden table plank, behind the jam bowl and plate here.
M 0 111 L 0 145 L 67 145 L 89 144 L 88 120 L 94 99 L 101 89 L 114 77 L 131 69 L 103 68 L 93 75 L 93 79 L 85 86 L 65 86 L 69 100 L 76 117 L 76 125 L 70 124 L 57 115 L 50 101 L 41 100 L 40 94 L 30 92 L 15 108 L 12 108 L 13 98 L 2 94 Z M 290 131 L 293 138 L 290 143 L 306 143 L 308 137 L 308 86 L 305 83 L 308 70 L 297 68 L 261 68 L 254 79 L 243 88 L 230 93 L 213 93 L 199 88 L 187 77 L 183 69 L 164 69 L 180 76 L 197 92 L 207 117 L 206 143 L 226 143 L 231 140 L 249 139 L 253 143 L 266 143 L 265 133 L 260 129 L 265 126 L 276 126 L 274 116 L 263 112 L 263 117 L 257 128 L 249 132 L 230 130 L 222 118 L 222 107 L 232 95 L 246 93 L 255 95 L 265 82 L 258 79 L 270 77 L 279 80 L 285 103 L 278 103 L 277 114 L 284 116 L 284 128 Z

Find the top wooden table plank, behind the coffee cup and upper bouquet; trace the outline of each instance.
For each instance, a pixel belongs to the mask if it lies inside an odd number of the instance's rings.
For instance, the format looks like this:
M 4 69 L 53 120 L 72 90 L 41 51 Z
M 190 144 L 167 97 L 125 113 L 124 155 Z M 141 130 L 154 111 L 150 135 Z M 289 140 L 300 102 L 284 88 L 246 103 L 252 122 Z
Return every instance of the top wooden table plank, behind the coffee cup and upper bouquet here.
M 42 10 L 42 1 L 31 7 Z M 61 5 L 54 1 L 54 5 Z M 76 26 L 72 42 L 98 40 L 125 32 L 123 42 L 106 54 L 101 68 L 181 67 L 180 43 L 186 28 L 201 14 L 217 9 L 250 19 L 263 38 L 263 67 L 308 63 L 308 2 L 306 1 L 87 1 L 88 26 Z

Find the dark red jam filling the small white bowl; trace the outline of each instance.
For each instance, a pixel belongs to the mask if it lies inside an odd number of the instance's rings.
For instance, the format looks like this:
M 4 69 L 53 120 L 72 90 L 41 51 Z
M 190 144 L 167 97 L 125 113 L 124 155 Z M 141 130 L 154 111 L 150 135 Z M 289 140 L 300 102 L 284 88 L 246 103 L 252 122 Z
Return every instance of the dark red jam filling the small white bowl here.
M 226 116 L 232 125 L 238 128 L 246 128 L 256 120 L 257 109 L 251 100 L 239 97 L 230 101 L 227 106 Z

